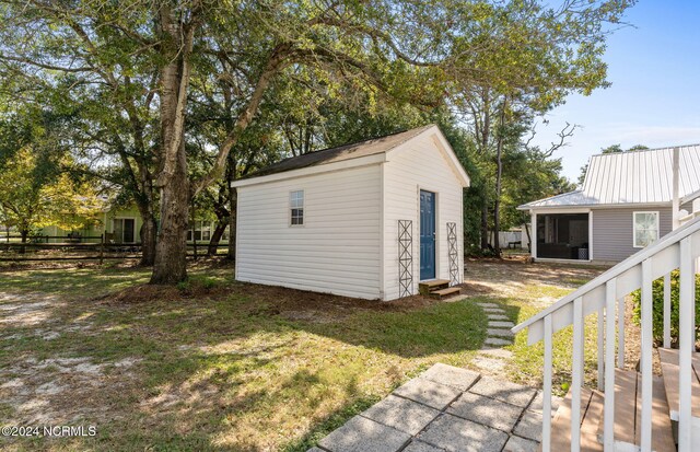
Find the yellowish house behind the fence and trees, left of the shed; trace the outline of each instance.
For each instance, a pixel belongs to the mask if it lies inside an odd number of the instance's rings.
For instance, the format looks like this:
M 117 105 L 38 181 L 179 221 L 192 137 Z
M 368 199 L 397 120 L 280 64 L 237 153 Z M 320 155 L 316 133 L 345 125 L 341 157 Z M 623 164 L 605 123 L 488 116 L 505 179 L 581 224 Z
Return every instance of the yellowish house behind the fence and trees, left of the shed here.
M 117 244 L 141 243 L 140 231 L 143 220 L 139 215 L 136 206 L 122 208 L 108 208 L 100 218 L 100 224 L 89 225 L 83 229 L 74 229 L 72 231 L 60 229 L 56 225 L 42 229 L 40 235 L 51 237 L 68 237 L 69 235 L 81 237 L 81 241 L 95 243 L 105 233 L 106 241 Z M 215 228 L 214 221 L 197 220 L 194 224 L 190 222 L 187 230 L 187 241 L 192 241 L 192 233 L 197 241 L 209 242 L 211 234 Z M 82 239 L 85 237 L 85 239 Z M 92 239 L 86 239 L 92 237 Z M 50 239 L 50 242 L 61 242 L 62 239 Z M 229 231 L 224 233 L 221 243 L 228 243 Z

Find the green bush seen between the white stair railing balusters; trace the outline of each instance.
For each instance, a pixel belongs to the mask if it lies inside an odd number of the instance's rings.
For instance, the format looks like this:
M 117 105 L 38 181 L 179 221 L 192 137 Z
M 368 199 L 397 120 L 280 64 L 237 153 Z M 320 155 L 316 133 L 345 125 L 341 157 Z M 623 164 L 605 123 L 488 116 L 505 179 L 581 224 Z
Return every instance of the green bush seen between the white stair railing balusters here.
M 679 275 L 678 270 L 670 274 L 670 338 L 673 343 L 678 341 L 678 308 L 679 308 Z M 653 328 L 654 340 L 657 344 L 664 340 L 664 279 L 660 278 L 653 282 L 652 298 L 654 305 Z M 641 322 L 642 292 L 632 292 L 634 311 L 632 320 L 635 324 Z M 700 326 L 700 275 L 696 275 L 696 340 L 698 339 L 698 327 Z

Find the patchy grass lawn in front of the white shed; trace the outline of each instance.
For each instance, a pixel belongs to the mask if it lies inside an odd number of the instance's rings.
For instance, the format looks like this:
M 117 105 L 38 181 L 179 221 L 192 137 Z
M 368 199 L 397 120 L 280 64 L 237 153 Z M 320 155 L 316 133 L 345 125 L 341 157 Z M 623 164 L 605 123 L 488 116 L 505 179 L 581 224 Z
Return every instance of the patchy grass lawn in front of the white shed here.
M 468 300 L 377 304 L 190 274 L 127 289 L 149 273 L 0 271 L 0 425 L 97 428 L 0 449 L 305 451 L 432 363 L 469 366 L 486 337 Z

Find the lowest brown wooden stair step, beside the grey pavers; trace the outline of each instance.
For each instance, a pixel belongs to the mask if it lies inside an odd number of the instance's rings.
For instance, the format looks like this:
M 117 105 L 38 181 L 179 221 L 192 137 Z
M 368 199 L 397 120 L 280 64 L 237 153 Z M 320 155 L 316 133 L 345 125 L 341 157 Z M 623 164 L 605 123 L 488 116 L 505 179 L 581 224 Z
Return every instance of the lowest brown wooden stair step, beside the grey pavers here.
M 564 451 L 571 449 L 571 390 L 559 405 L 551 421 L 551 450 Z M 598 419 L 602 417 L 603 394 L 581 389 L 581 451 L 603 451 L 603 444 L 597 441 L 596 431 Z M 541 445 L 540 449 L 541 451 Z

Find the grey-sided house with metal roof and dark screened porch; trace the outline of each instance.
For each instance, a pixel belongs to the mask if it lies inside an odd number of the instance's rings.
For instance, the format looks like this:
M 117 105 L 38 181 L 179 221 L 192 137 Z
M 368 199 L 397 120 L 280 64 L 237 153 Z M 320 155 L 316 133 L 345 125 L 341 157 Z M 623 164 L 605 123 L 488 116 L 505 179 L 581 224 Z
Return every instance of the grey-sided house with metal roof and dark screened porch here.
M 593 155 L 583 188 L 518 209 L 534 258 L 617 263 L 699 211 L 698 198 L 700 144 Z

